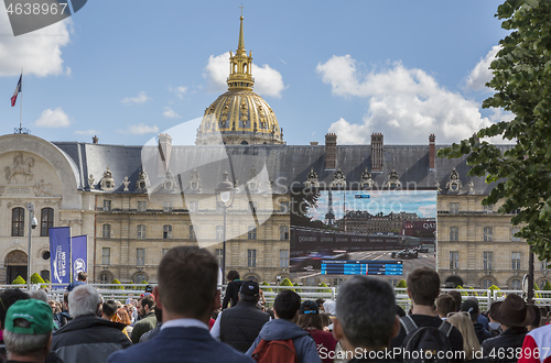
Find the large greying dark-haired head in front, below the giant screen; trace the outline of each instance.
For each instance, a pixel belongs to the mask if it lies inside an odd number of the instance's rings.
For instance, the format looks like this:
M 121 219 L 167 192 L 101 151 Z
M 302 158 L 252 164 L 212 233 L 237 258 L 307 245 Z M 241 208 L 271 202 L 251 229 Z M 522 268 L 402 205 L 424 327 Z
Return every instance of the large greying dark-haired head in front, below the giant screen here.
M 333 334 L 346 351 L 382 350 L 400 331 L 392 287 L 378 278 L 354 276 L 338 288 Z

